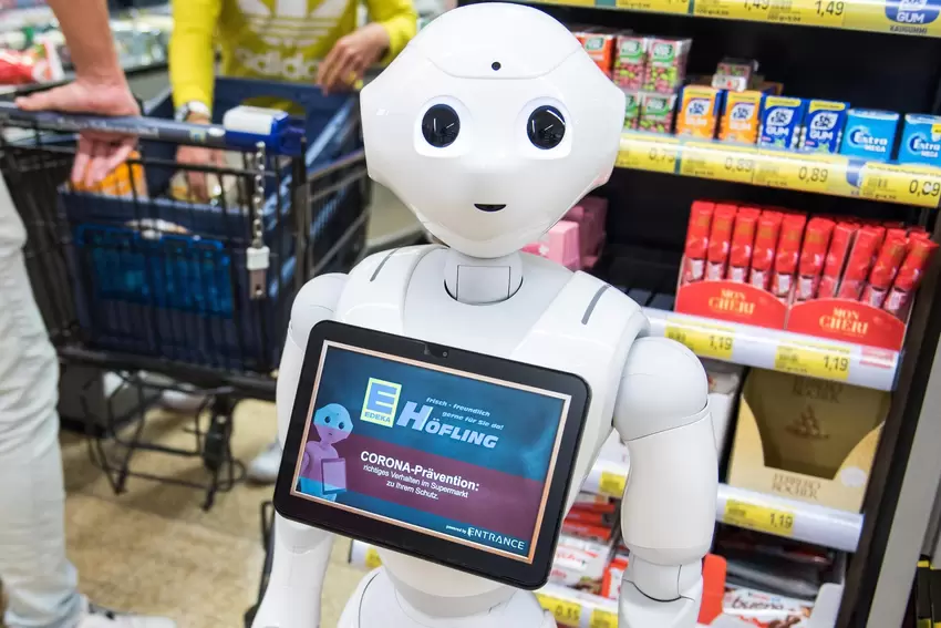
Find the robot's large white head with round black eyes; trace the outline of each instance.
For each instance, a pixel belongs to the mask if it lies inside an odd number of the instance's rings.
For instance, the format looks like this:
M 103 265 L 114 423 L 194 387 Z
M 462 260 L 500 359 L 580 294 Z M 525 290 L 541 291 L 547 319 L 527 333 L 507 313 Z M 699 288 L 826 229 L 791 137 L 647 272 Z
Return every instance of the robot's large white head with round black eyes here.
M 559 22 L 487 2 L 428 24 L 362 92 L 370 176 L 474 257 L 548 230 L 604 184 L 624 94 Z

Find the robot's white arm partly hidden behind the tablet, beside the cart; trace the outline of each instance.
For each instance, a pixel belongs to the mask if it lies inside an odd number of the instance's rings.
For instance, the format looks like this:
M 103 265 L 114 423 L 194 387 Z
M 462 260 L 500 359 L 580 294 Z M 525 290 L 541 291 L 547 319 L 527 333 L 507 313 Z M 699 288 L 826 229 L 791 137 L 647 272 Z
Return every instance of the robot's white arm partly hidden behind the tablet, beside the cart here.
M 345 275 L 314 277 L 298 292 L 278 372 L 276 390 L 278 440 L 288 435 L 310 329 L 333 318 Z M 304 453 L 307 459 L 307 453 Z M 275 515 L 275 558 L 255 628 L 309 628 L 320 625 L 320 597 L 333 535 Z

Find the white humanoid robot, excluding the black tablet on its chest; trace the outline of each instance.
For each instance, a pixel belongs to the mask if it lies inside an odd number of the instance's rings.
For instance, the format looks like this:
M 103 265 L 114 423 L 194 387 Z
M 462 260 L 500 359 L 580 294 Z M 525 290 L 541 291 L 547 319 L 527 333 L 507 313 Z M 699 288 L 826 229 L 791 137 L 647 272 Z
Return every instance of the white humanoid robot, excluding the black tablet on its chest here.
M 602 443 L 631 455 L 621 628 L 693 628 L 712 542 L 717 461 L 706 375 L 648 336 L 622 292 L 520 254 L 608 181 L 624 96 L 559 22 L 483 3 L 423 30 L 362 93 L 370 176 L 447 247 L 383 251 L 316 277 L 293 305 L 278 380 L 285 442 L 310 329 L 332 319 L 572 372 L 591 387 L 567 508 Z M 314 628 L 332 537 L 276 521 L 255 628 Z M 536 596 L 379 550 L 340 628 L 549 628 Z

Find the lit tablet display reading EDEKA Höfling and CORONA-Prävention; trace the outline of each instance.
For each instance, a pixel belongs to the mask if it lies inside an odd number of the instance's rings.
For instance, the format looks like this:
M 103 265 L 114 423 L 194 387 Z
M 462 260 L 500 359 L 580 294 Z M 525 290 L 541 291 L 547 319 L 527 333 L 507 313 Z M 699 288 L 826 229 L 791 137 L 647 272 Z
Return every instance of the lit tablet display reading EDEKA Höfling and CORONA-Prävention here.
M 327 340 L 291 493 L 531 564 L 570 403 Z

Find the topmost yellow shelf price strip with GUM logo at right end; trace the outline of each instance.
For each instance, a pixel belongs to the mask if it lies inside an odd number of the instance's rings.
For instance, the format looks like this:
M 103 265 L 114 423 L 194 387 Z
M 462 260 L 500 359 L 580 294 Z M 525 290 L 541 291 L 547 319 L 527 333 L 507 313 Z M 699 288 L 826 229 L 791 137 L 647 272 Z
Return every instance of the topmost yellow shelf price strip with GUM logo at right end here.
M 913 37 L 941 37 L 934 2 L 904 7 L 899 0 L 532 0 L 563 7 L 670 13 L 800 24 Z

